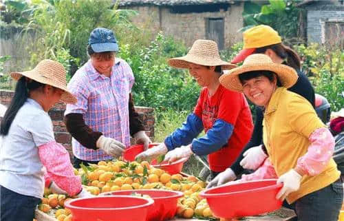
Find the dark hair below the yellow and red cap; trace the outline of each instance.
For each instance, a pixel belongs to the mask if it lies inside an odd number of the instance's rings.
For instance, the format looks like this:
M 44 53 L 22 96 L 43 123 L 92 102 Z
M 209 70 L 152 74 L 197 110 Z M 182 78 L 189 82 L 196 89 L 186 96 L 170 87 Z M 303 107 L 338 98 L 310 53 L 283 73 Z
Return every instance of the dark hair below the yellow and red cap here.
M 254 53 L 264 54 L 268 49 L 274 51 L 279 57 L 281 57 L 281 59 L 286 59 L 286 65 L 294 68 L 295 70 L 301 69 L 301 59 L 297 52 L 282 43 L 257 48 Z

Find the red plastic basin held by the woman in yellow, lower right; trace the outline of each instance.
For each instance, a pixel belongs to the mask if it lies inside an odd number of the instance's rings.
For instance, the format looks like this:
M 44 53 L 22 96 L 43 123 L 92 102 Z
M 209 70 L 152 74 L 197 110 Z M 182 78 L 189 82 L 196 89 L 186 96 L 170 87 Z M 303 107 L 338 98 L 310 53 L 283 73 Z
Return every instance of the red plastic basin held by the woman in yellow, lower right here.
M 283 186 L 277 180 L 237 182 L 232 185 L 213 187 L 200 193 L 206 198 L 213 214 L 219 218 L 240 218 L 258 215 L 281 208 L 276 199 Z

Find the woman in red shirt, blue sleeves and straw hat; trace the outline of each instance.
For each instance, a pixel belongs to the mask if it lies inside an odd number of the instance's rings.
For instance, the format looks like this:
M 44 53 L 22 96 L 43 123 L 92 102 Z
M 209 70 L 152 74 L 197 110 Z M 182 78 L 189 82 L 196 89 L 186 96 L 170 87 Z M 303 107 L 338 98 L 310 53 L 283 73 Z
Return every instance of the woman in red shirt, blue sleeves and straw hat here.
M 202 87 L 200 98 L 182 127 L 167 136 L 164 143 L 139 154 L 137 159 L 166 154 L 164 160 L 173 162 L 192 154 L 208 155 L 214 178 L 237 158 L 252 132 L 252 117 L 244 94 L 226 90 L 219 84 L 222 70 L 235 65 L 222 61 L 217 44 L 209 40 L 195 41 L 186 56 L 169 59 L 169 65 L 189 69 Z M 197 138 L 202 130 L 206 134 Z

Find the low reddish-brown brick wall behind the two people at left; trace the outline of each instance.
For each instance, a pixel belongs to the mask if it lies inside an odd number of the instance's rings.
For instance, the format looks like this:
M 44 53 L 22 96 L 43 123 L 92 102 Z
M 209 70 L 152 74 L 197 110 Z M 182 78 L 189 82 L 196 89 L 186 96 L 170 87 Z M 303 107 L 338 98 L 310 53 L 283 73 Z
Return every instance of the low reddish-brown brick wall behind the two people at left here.
M 9 90 L 0 90 L 0 103 L 8 106 L 12 100 L 14 92 Z M 147 135 L 154 138 L 154 109 L 151 107 L 135 107 L 136 112 L 140 116 L 140 120 L 144 125 L 144 130 Z M 54 135 L 58 143 L 61 143 L 72 156 L 72 136 L 67 132 L 65 123 L 63 122 L 63 113 L 65 112 L 65 104 L 57 103 L 49 112 L 52 118 L 52 124 L 54 125 Z M 131 139 L 131 143 L 135 143 L 134 139 Z

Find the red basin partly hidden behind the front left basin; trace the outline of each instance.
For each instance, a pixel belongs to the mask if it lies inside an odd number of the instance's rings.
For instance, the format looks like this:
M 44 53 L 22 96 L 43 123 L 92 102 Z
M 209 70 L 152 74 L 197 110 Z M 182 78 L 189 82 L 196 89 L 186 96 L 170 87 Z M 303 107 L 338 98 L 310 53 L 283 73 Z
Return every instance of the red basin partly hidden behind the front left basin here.
M 180 191 L 162 189 L 136 189 L 101 193 L 101 195 L 123 196 L 131 193 L 140 193 L 150 196 L 154 200 L 153 207 L 149 208 L 147 221 L 170 220 L 177 212 L 178 198 L 183 196 Z

